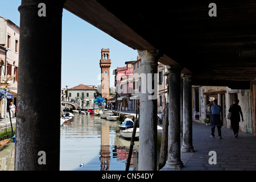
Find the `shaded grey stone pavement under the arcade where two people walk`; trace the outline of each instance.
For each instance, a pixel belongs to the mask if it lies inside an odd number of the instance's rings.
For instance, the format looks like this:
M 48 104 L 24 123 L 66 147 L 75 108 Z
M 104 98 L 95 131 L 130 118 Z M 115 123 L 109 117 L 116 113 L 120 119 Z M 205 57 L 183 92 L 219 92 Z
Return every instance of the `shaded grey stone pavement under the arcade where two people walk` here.
M 222 127 L 222 139 L 218 138 L 217 129 L 215 138 L 210 138 L 210 127 L 193 121 L 195 152 L 181 152 L 181 161 L 184 164 L 181 171 L 256 171 L 255 135 L 240 131 L 238 138 L 234 138 L 232 129 Z M 210 151 L 217 154 L 216 164 L 209 164 L 209 159 L 212 159 Z

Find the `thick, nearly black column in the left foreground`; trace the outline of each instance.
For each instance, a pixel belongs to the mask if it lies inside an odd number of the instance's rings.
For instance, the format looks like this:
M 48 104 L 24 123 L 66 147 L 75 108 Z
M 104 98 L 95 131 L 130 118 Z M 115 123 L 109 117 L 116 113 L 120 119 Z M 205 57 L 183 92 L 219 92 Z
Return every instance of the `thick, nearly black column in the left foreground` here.
M 63 5 L 22 0 L 19 6 L 15 170 L 59 170 Z

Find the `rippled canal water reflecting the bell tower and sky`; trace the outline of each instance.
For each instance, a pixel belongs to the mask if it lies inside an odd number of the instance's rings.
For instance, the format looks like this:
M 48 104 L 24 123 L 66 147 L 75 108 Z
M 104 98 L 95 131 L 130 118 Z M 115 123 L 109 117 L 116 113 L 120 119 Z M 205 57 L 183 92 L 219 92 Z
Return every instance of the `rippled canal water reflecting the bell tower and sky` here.
M 77 114 L 60 127 L 61 171 L 125 171 L 130 140 L 118 132 L 119 121 Z M 138 170 L 138 141 L 135 141 L 129 171 Z M 0 151 L 0 171 L 14 170 L 15 143 Z

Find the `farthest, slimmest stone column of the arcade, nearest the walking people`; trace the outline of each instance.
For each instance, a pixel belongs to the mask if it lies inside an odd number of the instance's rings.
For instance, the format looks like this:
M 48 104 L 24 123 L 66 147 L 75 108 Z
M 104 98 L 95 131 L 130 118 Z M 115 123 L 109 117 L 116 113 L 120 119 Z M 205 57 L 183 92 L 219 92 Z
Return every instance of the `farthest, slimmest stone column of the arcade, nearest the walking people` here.
M 194 152 L 192 144 L 192 75 L 183 74 L 183 144 L 182 152 Z

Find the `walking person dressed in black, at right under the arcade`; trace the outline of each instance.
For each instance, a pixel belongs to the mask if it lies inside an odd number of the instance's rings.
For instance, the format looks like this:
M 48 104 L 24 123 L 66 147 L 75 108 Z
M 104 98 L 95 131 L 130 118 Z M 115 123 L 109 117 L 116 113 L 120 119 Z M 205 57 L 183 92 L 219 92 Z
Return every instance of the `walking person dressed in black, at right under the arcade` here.
M 229 107 L 229 112 L 231 112 L 231 127 L 234 132 L 234 137 L 238 137 L 238 130 L 239 130 L 239 122 L 240 122 L 240 114 L 242 117 L 243 122 L 243 113 L 241 106 L 238 105 L 239 100 L 237 98 L 233 99 L 233 104 Z

